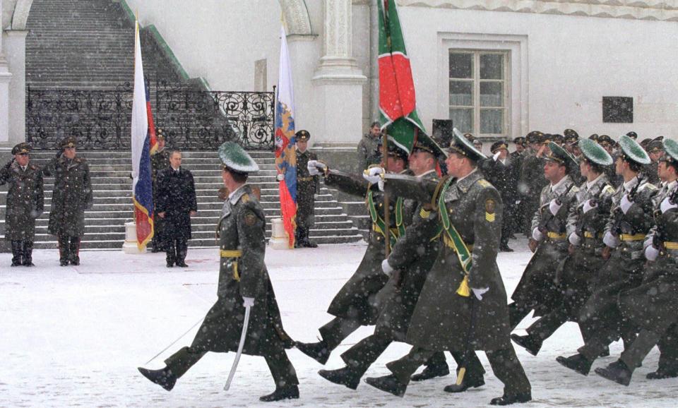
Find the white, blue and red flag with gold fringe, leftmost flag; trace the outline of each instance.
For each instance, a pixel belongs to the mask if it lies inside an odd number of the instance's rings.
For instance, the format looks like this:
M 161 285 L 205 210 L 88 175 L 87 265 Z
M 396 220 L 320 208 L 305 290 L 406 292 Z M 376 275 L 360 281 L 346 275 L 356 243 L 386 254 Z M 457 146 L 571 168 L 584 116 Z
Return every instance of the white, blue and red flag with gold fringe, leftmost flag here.
M 148 88 L 143 79 L 139 23 L 136 22 L 134 44 L 134 95 L 132 99 L 132 197 L 136 242 L 139 249 L 145 248 L 153 238 L 153 182 L 150 176 L 151 138 L 155 143 L 153 116 L 150 114 Z

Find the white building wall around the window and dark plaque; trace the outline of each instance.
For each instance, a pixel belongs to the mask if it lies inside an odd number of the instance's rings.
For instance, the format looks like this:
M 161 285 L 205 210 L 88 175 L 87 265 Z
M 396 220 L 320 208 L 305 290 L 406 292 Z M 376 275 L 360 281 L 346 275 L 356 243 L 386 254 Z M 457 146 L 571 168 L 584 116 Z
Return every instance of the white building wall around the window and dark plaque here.
M 447 116 L 440 83 L 441 35 L 527 37 L 528 121 L 520 129 L 581 136 L 634 130 L 640 138 L 678 133 L 678 25 L 621 18 L 400 7 L 424 124 Z M 516 67 L 513 67 L 514 69 Z M 603 124 L 602 97 L 634 98 L 633 124 Z M 521 104 L 513 100 L 512 107 Z M 518 136 L 512 134 L 511 136 Z

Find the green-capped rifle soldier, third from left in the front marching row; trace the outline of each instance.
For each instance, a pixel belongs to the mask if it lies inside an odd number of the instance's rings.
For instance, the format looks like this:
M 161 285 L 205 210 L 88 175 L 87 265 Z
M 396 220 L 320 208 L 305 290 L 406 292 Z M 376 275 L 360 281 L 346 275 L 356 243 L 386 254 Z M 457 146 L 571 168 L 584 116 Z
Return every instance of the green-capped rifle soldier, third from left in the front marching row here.
M 610 342 L 622 337 L 626 347 L 638 328 L 625 318 L 618 306 L 619 294 L 634 289 L 643 280 L 643 241 L 653 225 L 653 198 L 657 188 L 639 174 L 650 157 L 629 136 L 619 138 L 622 149 L 615 167 L 624 179 L 612 196 L 612 210 L 605 225 L 602 258 L 607 262 L 593 280 L 593 293 L 581 308 L 579 324 L 588 338 L 578 354 L 557 361 L 573 371 L 588 375 L 593 361 Z

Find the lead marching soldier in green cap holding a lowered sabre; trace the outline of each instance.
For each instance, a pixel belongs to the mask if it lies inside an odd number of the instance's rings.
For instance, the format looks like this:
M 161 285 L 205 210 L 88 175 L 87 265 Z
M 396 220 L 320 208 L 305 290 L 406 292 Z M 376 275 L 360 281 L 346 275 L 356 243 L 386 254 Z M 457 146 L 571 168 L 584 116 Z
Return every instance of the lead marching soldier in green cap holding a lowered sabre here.
M 247 176 L 258 171 L 254 160 L 237 143 L 219 148 L 221 176 L 230 194 L 217 226 L 220 242 L 220 270 L 217 301 L 205 316 L 190 347 L 183 347 L 165 360 L 165 368 L 138 370 L 165 390 L 207 352 L 235 352 L 238 349 L 246 309 L 250 311 L 244 354 L 263 356 L 275 380 L 275 391 L 261 401 L 299 398 L 297 373 L 285 352 L 291 344 L 283 330 L 263 259 L 266 253 L 266 216 Z

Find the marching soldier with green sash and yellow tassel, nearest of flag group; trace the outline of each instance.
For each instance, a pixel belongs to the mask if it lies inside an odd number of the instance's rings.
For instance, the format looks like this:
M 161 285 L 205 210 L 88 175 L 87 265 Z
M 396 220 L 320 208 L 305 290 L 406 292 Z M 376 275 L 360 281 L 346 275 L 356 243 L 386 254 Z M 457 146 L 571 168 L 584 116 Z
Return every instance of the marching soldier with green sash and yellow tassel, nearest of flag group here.
M 406 337 L 413 347 L 408 355 L 387 364 L 391 375 L 367 378 L 379 390 L 405 395 L 412 373 L 445 349 L 463 353 L 467 388 L 477 387 L 482 385 L 482 365 L 468 356 L 473 350 L 484 350 L 494 374 L 504 383 L 504 395 L 490 404 L 532 399 L 530 382 L 509 340 L 506 290 L 496 265 L 501 197 L 477 171 L 482 158 L 482 152 L 455 133 L 446 160 L 450 177 L 441 181 L 435 196 L 441 249 Z

